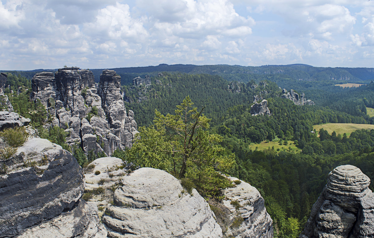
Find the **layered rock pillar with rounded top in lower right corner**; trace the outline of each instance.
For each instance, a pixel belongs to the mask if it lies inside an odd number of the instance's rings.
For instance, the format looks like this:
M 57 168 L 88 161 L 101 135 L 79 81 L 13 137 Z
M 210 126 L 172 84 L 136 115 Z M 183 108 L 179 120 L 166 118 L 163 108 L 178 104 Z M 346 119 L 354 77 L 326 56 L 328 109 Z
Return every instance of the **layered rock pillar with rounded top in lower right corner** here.
M 368 176 L 355 166 L 332 170 L 300 238 L 374 237 L 374 197 L 369 185 Z

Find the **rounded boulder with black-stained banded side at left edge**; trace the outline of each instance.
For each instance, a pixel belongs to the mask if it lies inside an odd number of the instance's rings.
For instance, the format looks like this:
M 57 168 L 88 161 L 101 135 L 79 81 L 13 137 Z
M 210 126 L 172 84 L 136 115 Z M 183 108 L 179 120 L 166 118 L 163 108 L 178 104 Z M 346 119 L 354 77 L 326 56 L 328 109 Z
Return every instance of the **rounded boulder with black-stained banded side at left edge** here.
M 29 138 L 4 162 L 0 176 L 0 237 L 25 229 L 70 210 L 83 195 L 83 172 L 61 146 Z

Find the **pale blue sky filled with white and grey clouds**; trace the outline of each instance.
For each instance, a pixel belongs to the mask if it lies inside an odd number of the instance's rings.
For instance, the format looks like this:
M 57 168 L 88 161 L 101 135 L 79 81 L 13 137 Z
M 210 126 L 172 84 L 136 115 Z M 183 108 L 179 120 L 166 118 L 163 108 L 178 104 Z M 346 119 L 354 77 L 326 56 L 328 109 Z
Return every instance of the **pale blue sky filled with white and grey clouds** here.
M 1 0 L 0 69 L 374 67 L 374 0 Z

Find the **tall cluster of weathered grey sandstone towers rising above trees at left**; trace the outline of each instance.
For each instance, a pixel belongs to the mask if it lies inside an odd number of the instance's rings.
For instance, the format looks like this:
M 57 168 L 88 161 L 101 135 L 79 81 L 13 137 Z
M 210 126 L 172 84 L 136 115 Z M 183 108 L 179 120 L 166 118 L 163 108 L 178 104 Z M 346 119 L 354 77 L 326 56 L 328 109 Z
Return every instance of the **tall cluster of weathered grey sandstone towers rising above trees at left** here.
M 77 67 L 37 73 L 31 80 L 30 99 L 40 100 L 52 119 L 69 133 L 67 143 L 80 143 L 86 154 L 104 151 L 110 156 L 116 148 L 131 147 L 137 133 L 134 113 L 126 113 L 120 93 L 121 79 L 104 70 L 99 86 L 93 73 Z M 99 91 L 99 92 L 98 92 Z

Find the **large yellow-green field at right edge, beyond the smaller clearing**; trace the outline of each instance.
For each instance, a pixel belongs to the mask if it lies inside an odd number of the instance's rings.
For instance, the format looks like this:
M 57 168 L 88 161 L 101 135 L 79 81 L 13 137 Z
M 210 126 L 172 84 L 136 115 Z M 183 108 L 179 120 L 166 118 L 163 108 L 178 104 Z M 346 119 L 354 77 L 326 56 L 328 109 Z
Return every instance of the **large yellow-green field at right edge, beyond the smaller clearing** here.
M 336 134 L 343 135 L 344 133 L 347 133 L 347 136 L 349 136 L 352 131 L 361 130 L 361 129 L 367 129 L 367 130 L 374 129 L 374 125 L 354 124 L 354 123 L 326 123 L 322 125 L 313 125 L 313 129 L 316 129 L 317 132 L 321 128 L 324 128 L 326 131 L 328 131 L 330 135 L 333 131 L 335 131 Z

